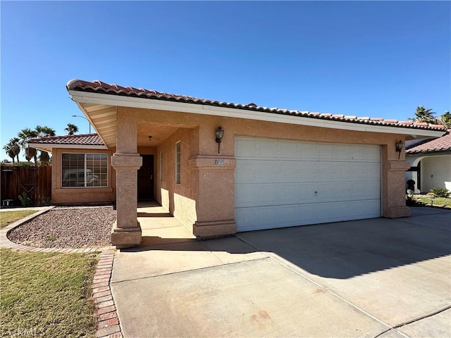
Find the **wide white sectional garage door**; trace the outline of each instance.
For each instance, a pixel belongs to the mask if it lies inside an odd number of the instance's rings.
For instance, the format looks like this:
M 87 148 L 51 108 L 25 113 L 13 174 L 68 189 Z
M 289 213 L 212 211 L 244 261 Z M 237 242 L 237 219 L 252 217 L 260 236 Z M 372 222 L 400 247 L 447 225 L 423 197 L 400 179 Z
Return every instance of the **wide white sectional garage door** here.
M 381 216 L 381 147 L 235 139 L 238 231 Z

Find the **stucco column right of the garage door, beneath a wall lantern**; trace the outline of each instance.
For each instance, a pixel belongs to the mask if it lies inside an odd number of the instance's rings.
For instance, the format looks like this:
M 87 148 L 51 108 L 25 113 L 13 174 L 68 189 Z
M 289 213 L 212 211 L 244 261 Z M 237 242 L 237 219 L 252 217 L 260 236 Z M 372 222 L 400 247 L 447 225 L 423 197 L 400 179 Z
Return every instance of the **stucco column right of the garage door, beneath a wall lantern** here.
M 384 170 L 383 217 L 409 217 L 410 208 L 406 206 L 405 171 L 410 168 L 406 161 L 386 161 Z

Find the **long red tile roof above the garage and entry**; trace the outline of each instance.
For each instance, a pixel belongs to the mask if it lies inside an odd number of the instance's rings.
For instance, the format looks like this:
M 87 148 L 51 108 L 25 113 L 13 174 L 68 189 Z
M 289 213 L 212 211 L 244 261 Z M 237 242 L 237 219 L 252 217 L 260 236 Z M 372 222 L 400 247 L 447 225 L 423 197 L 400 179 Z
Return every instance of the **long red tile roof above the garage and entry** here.
M 257 104 L 233 104 L 223 101 L 212 101 L 208 99 L 198 99 L 194 96 L 184 96 L 178 94 L 168 94 L 163 92 L 156 92 L 155 90 L 137 89 L 134 87 L 121 87 L 117 84 L 107 84 L 99 80 L 92 82 L 85 80 L 70 80 L 66 84 L 68 90 L 80 91 L 80 92 L 92 92 L 99 94 L 111 94 L 119 96 L 131 96 L 139 97 L 142 99 L 154 99 L 162 101 L 175 101 L 183 102 L 186 104 L 204 104 L 209 106 L 220 106 L 224 108 L 236 108 L 245 111 L 259 111 L 264 113 L 275 113 L 281 115 L 294 115 L 304 118 L 317 118 L 322 120 L 341 121 L 346 123 L 362 123 L 367 125 L 382 125 L 388 127 L 403 127 L 414 128 L 423 130 L 443 130 L 443 125 L 433 125 L 428 123 L 414 123 L 412 121 L 398 121 L 398 120 L 386 120 L 383 118 L 369 118 L 369 117 L 357 117 L 354 115 L 333 115 L 330 113 L 311 113 L 309 111 L 296 111 L 280 108 L 268 108 L 257 106 Z M 245 116 L 243 116 L 245 117 Z

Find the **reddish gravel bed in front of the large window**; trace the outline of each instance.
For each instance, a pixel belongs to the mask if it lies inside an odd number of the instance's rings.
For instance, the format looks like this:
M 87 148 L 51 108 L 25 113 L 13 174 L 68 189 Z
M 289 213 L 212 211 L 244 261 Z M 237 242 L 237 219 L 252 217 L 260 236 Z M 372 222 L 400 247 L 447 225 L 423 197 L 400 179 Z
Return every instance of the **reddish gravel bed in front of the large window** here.
M 8 238 L 41 248 L 107 246 L 116 210 L 109 207 L 54 208 L 11 230 Z

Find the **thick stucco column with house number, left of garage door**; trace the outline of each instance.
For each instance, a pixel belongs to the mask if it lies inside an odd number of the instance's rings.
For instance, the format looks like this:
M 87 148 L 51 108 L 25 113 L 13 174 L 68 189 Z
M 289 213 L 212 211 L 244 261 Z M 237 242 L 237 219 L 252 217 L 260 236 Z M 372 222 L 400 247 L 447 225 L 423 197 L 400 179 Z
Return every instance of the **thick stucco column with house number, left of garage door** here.
M 235 157 L 194 156 L 189 164 L 192 170 L 199 170 L 194 235 L 211 238 L 235 234 Z

